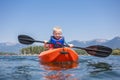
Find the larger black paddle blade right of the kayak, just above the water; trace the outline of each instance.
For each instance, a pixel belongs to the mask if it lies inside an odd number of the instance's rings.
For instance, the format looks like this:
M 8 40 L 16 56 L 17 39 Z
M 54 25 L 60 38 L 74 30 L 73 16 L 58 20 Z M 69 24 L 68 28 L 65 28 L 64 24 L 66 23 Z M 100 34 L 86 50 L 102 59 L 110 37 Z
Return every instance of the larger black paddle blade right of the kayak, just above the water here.
M 94 45 L 85 49 L 88 54 L 97 57 L 107 57 L 112 53 L 112 49 L 106 46 Z

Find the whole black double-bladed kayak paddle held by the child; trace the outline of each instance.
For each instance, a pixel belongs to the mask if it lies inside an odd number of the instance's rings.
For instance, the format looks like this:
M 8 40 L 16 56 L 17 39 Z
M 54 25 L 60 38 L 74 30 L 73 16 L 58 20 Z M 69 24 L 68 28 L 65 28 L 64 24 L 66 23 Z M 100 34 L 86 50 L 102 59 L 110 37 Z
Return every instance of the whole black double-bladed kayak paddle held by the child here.
M 31 38 L 30 36 L 27 36 L 27 35 L 19 35 L 18 40 L 22 44 L 33 44 L 34 42 L 44 43 L 44 41 L 35 40 L 35 39 L 33 39 L 33 38 Z M 53 44 L 53 43 L 48 42 L 47 44 Z M 68 45 L 62 45 L 62 46 L 69 47 Z M 89 47 L 86 47 L 86 48 L 73 46 L 73 48 L 83 49 L 88 54 L 93 55 L 93 56 L 97 56 L 97 57 L 107 57 L 112 53 L 111 48 L 106 47 L 106 46 L 101 46 L 101 45 L 93 45 L 93 46 L 89 46 Z

